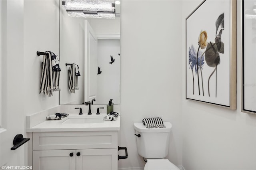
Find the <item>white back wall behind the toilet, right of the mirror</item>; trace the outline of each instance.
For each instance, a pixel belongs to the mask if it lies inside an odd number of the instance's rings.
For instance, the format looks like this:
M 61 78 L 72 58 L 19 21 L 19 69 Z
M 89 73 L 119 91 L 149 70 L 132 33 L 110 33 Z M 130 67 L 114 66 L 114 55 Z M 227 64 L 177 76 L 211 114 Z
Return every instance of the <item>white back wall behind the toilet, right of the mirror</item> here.
M 122 1 L 121 125 L 119 146 L 128 158 L 118 168 L 143 169 L 134 122 L 162 117 L 172 123 L 168 158 L 182 165 L 182 2 Z

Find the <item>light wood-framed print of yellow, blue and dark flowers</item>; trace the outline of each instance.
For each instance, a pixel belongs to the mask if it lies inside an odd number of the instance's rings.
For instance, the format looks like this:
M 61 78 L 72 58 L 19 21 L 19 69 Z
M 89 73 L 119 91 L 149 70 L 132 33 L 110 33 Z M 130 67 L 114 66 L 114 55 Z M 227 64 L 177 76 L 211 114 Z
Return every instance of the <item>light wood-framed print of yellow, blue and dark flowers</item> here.
M 204 0 L 186 18 L 186 99 L 236 109 L 236 0 Z

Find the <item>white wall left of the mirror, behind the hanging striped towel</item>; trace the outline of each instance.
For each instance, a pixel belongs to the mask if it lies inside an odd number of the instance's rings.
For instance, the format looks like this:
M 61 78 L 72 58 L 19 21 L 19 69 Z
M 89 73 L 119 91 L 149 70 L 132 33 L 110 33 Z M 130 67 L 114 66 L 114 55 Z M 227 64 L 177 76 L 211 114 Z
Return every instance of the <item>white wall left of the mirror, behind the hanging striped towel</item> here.
M 24 113 L 30 115 L 59 105 L 59 92 L 39 95 L 43 55 L 36 51 L 52 51 L 59 55 L 59 1 L 24 1 Z M 63 68 L 61 68 L 63 69 Z M 61 71 L 62 72 L 62 71 Z

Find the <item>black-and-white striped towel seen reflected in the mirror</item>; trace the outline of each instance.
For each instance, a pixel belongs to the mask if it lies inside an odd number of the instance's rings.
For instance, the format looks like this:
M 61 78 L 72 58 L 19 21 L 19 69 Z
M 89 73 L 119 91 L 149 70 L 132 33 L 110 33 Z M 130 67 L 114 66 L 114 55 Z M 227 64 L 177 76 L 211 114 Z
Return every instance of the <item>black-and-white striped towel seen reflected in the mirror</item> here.
M 78 90 L 78 76 L 80 76 L 78 65 L 72 63 L 69 68 L 69 81 L 68 81 L 68 92 L 75 93 L 75 90 Z M 76 75 L 78 71 L 79 75 Z

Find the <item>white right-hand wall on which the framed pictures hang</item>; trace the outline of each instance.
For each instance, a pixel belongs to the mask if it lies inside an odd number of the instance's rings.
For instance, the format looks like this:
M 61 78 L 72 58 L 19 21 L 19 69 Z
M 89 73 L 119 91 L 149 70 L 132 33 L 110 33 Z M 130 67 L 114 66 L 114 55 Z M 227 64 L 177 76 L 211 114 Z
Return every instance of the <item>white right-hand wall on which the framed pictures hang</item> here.
M 256 115 L 240 111 L 241 1 L 237 1 L 237 109 L 185 100 L 185 22 L 201 2 L 182 1 L 182 165 L 186 170 L 255 170 Z

